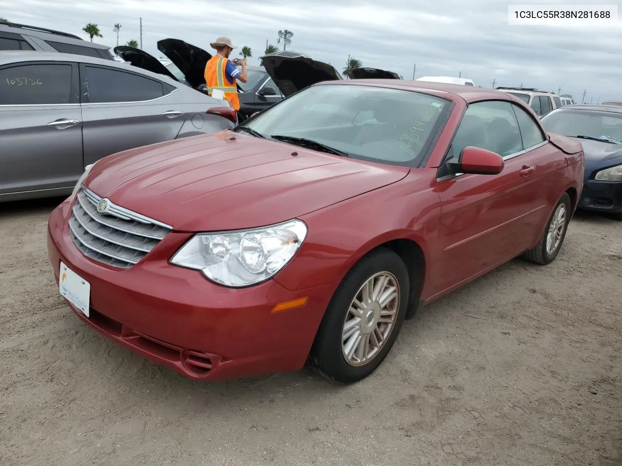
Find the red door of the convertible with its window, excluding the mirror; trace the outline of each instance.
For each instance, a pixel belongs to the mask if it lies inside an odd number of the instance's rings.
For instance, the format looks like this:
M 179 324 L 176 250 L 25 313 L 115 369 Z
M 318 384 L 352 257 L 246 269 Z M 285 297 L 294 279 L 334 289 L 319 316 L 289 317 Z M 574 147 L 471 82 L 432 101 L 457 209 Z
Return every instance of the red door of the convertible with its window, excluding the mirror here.
M 499 153 L 505 166 L 499 175 L 448 175 L 446 167 L 440 167 L 437 179 L 442 251 L 439 292 L 454 288 L 525 250 L 532 237 L 530 212 L 541 203 L 541 187 L 534 183 L 532 157 L 524 151 L 511 103 L 470 104 L 445 162 L 452 155 L 458 157 L 468 146 Z

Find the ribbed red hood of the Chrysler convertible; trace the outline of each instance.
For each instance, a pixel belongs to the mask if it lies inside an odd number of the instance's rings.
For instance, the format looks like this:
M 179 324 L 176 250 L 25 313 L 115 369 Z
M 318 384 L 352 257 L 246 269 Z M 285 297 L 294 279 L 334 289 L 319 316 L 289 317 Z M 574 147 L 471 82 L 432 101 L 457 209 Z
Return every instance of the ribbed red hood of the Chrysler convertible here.
M 111 155 L 85 185 L 176 231 L 195 232 L 287 221 L 408 172 L 225 130 Z

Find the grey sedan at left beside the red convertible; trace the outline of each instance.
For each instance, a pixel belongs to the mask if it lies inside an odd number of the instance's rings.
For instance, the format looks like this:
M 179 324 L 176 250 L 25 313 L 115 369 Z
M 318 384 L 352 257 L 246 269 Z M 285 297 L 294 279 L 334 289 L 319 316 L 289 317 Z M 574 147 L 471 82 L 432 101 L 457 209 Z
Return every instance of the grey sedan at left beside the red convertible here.
M 107 155 L 235 124 L 227 101 L 128 63 L 0 51 L 0 202 L 68 195 Z

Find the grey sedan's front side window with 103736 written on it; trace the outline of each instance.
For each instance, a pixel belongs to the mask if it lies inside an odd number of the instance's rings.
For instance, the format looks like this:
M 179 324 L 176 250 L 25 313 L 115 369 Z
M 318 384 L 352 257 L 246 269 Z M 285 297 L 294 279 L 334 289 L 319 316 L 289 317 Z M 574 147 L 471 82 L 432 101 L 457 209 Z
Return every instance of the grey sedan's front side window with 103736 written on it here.
M 0 105 L 69 104 L 72 65 L 20 65 L 0 70 Z

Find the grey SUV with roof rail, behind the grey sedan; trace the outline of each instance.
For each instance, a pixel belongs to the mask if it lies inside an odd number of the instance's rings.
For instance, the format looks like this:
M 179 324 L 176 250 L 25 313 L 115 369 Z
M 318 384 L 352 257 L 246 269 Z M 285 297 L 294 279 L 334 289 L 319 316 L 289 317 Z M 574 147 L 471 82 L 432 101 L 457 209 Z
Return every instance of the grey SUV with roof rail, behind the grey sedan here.
M 45 27 L 0 21 L 0 50 L 38 50 L 114 60 L 110 47 Z

